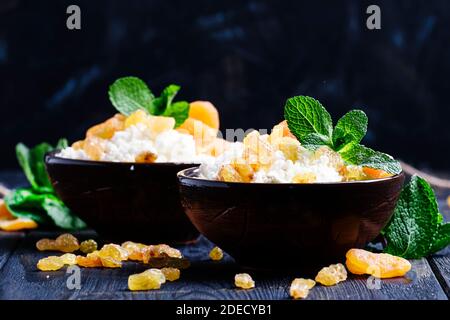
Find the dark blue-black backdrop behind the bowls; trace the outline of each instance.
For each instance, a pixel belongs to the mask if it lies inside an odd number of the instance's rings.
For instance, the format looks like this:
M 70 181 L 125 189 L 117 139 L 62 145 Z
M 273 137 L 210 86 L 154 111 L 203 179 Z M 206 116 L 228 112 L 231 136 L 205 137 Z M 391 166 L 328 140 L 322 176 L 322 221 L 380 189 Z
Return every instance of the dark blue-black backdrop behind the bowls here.
M 66 28 L 77 4 L 82 30 Z M 377 4 L 382 29 L 366 28 Z M 0 1 L 0 168 L 14 145 L 74 141 L 114 113 L 107 89 L 135 75 L 212 101 L 223 128 L 271 128 L 286 98 L 337 120 L 369 116 L 365 144 L 449 169 L 450 1 Z

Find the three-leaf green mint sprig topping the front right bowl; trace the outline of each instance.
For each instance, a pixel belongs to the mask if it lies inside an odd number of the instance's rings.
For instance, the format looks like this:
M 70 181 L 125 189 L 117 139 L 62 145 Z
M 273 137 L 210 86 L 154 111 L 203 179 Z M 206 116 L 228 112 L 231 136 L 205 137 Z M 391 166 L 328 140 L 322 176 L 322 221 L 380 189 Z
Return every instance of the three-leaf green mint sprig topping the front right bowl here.
M 345 114 L 333 129 L 331 116 L 319 101 L 296 96 L 287 100 L 284 117 L 289 130 L 308 149 L 325 145 L 339 152 L 348 164 L 381 169 L 391 174 L 402 171 L 399 162 L 391 156 L 359 144 L 366 135 L 368 124 L 367 116 L 361 110 Z

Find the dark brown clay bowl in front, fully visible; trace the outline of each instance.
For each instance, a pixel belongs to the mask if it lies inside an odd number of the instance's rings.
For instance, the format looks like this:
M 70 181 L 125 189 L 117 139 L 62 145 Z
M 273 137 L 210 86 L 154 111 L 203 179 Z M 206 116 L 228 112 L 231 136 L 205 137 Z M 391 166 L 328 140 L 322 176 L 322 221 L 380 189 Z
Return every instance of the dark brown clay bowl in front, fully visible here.
M 374 240 L 393 213 L 404 174 L 379 180 L 228 183 L 178 173 L 195 227 L 243 266 L 299 268 L 345 259 Z

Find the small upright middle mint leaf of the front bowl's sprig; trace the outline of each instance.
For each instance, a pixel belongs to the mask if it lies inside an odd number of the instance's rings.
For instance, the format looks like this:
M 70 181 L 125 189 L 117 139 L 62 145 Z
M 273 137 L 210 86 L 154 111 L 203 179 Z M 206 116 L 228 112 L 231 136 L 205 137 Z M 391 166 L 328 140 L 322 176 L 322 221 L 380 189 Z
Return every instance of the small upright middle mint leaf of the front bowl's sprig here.
M 360 143 L 366 135 L 367 123 L 367 116 L 361 110 L 352 110 L 346 113 L 339 119 L 333 131 L 335 150 L 339 150 L 351 142 Z

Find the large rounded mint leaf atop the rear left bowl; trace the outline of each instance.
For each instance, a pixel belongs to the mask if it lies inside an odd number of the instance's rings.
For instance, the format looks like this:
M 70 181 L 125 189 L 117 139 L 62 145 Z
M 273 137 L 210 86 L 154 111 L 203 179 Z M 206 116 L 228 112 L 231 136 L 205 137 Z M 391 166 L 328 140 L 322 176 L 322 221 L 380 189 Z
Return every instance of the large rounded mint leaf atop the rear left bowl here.
M 138 109 L 150 112 L 154 98 L 145 82 L 136 77 L 120 78 L 109 87 L 111 103 L 126 116 Z

